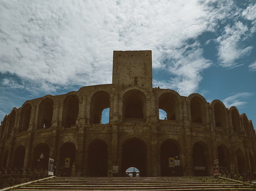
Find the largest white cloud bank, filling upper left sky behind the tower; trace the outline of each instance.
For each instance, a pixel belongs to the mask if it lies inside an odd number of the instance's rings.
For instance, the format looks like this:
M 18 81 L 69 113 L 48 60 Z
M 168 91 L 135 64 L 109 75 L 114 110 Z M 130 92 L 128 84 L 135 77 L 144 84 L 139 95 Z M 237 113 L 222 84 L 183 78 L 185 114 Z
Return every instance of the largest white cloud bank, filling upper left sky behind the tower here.
M 151 49 L 153 68 L 163 69 L 170 65 L 163 63 L 165 55 L 182 52 L 188 39 L 214 30 L 207 9 L 191 0 L 1 1 L 0 71 L 48 91 L 51 84 L 111 83 L 113 50 Z M 188 62 L 185 57 L 176 59 Z M 198 68 L 196 63 L 189 67 Z M 176 72 L 183 75 L 184 70 L 177 67 Z

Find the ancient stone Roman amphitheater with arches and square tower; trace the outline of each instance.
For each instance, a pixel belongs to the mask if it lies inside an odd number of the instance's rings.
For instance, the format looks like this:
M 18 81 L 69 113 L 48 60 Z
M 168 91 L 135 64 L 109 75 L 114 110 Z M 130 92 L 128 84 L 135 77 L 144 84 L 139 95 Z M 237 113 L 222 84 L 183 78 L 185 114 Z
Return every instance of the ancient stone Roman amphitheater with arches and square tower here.
M 220 168 L 254 171 L 255 157 L 252 121 L 236 107 L 152 87 L 150 50 L 114 51 L 112 84 L 28 100 L 0 128 L 1 168 L 47 168 L 52 158 L 57 176 L 125 176 L 130 167 L 130 176 L 212 176 L 217 158 Z

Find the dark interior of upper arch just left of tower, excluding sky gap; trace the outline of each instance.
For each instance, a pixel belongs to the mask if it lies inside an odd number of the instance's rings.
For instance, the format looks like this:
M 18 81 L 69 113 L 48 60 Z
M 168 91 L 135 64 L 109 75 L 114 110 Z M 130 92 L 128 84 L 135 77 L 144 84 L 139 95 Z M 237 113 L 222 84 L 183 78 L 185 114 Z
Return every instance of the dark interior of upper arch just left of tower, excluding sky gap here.
M 102 111 L 109 107 L 109 94 L 104 91 L 96 92 L 91 99 L 90 124 L 101 123 Z

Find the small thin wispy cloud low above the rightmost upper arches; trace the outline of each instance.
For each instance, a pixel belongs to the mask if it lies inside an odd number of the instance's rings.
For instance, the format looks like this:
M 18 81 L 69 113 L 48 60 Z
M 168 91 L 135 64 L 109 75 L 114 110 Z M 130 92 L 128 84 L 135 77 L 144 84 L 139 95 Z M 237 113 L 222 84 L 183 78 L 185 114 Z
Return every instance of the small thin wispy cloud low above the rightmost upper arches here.
M 252 97 L 253 95 L 254 93 L 251 93 L 251 92 L 239 92 L 223 99 L 222 102 L 227 108 L 231 106 L 241 107 L 247 104 L 247 102 L 244 101 L 244 99 Z

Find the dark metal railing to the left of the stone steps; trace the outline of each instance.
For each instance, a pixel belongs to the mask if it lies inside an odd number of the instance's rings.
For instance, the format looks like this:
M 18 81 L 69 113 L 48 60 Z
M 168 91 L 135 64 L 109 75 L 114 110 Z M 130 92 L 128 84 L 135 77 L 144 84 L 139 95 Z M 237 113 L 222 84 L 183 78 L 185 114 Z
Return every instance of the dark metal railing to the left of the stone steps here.
M 48 169 L 2 168 L 0 170 L 0 189 L 48 177 Z

